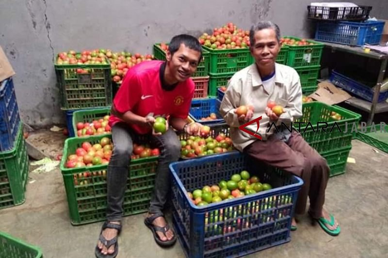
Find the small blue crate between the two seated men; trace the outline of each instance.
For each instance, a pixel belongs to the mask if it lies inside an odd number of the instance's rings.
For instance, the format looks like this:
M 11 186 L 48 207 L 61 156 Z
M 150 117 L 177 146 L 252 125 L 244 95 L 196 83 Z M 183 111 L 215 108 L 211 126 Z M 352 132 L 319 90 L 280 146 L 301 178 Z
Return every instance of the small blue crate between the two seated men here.
M 217 98 L 202 98 L 193 99 L 191 102 L 190 117 L 201 124 L 225 123 L 224 118 L 220 114 L 221 101 Z M 215 120 L 202 121 L 202 118 L 207 118 L 211 113 L 217 117 Z

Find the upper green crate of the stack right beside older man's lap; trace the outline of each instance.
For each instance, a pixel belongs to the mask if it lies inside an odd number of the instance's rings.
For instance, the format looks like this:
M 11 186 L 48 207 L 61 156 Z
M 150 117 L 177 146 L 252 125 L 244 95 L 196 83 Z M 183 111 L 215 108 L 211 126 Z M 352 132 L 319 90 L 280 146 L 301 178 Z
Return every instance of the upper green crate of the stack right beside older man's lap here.
M 317 152 L 323 153 L 352 146 L 352 138 L 355 136 L 355 133 L 351 132 L 352 125 L 353 122 L 358 124 L 361 115 L 339 106 L 329 106 L 318 101 L 303 103 L 302 112 L 303 116 L 293 123 L 293 127 L 301 133 L 302 137 Z M 331 112 L 338 113 L 341 119 L 335 120 L 332 118 Z M 296 122 L 300 122 L 300 130 L 299 124 Z M 308 122 L 311 123 L 313 128 L 308 125 Z M 320 122 L 319 130 L 317 130 L 318 122 Z M 327 123 L 326 132 L 322 129 L 325 126 L 324 122 Z M 345 133 L 346 122 L 348 128 Z M 335 126 L 334 128 L 333 125 Z M 284 128 L 284 130 L 287 130 L 287 128 Z

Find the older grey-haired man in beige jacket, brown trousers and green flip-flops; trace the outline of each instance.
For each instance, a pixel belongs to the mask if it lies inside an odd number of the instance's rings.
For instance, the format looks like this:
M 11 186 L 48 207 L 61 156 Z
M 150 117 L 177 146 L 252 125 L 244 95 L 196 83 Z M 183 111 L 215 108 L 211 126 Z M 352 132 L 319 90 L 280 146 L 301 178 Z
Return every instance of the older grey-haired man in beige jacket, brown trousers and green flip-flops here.
M 308 196 L 309 215 L 318 221 L 325 232 L 336 236 L 340 227 L 333 215 L 323 208 L 330 174 L 326 160 L 295 130 L 290 133 L 285 129 L 277 133 L 275 126 L 270 126 L 273 122 L 277 128 L 280 128 L 281 122 L 290 125 L 302 116 L 299 75 L 293 68 L 275 63 L 280 50 L 280 30 L 270 21 L 259 22 L 252 27 L 249 37 L 255 63 L 229 80 L 220 106 L 220 112 L 230 126 L 233 144 L 241 152 L 301 177 L 304 184 L 298 194 L 295 213 L 305 213 Z M 272 112 L 267 107 L 270 101 L 283 106 L 283 114 L 277 116 Z M 236 109 L 242 105 L 252 105 L 254 109 L 238 117 Z M 261 140 L 239 130 L 240 125 L 260 116 L 257 134 Z M 246 129 L 255 133 L 257 123 L 252 123 Z M 295 218 L 292 218 L 291 230 L 296 230 Z

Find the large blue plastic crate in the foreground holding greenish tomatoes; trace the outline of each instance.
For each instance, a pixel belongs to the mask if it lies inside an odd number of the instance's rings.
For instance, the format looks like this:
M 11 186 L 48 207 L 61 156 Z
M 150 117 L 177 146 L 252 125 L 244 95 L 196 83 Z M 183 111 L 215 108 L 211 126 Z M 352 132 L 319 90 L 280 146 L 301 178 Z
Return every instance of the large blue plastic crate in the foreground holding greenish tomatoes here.
M 302 179 L 266 167 L 241 152 L 170 164 L 173 225 L 186 257 L 240 257 L 291 240 L 291 219 Z M 187 191 L 229 180 L 242 170 L 273 189 L 206 206 Z

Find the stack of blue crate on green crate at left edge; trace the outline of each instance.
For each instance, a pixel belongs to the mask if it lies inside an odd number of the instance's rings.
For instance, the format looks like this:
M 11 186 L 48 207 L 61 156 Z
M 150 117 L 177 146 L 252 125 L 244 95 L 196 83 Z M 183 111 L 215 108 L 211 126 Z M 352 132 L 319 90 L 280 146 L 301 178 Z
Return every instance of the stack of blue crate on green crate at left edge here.
M 12 77 L 0 82 L 0 209 L 24 203 L 29 171 Z

